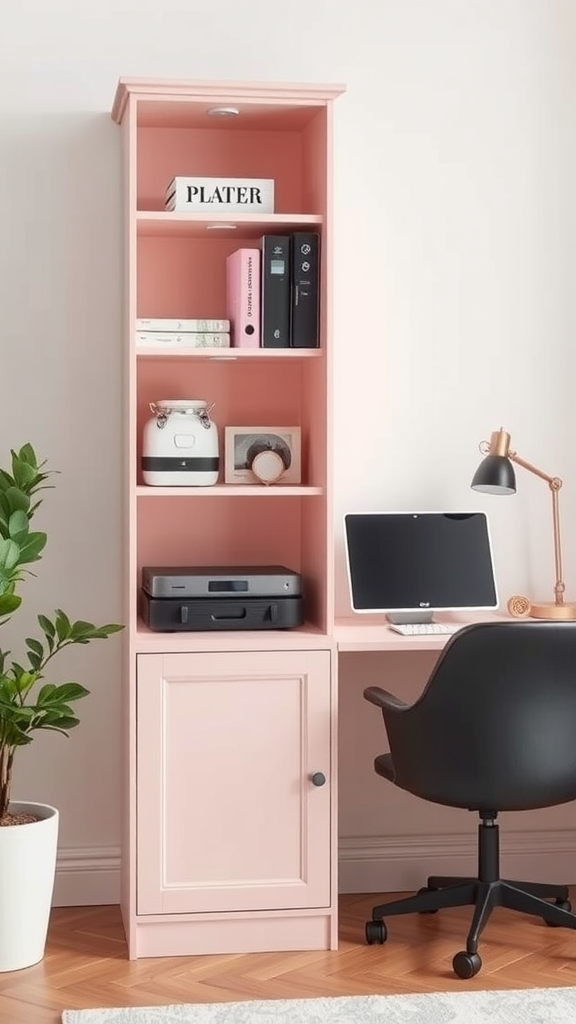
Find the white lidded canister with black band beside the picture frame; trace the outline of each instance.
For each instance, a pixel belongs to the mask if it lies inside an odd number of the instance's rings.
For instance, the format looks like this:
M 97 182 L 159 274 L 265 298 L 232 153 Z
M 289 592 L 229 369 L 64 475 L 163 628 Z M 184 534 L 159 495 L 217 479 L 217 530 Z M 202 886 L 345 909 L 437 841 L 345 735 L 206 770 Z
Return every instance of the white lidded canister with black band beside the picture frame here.
M 207 401 L 163 398 L 143 428 L 142 479 L 153 486 L 207 487 L 218 480 L 218 431 Z

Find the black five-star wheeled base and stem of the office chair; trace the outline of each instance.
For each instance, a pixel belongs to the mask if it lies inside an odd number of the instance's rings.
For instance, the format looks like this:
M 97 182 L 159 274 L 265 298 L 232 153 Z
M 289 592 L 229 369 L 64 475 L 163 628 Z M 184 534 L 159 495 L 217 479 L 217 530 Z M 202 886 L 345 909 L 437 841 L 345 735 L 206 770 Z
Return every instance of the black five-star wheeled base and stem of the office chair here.
M 482 966 L 478 944 L 495 906 L 542 918 L 550 926 L 576 929 L 576 913 L 572 913 L 567 886 L 500 879 L 498 860 L 498 826 L 493 818 L 483 820 L 480 825 L 479 878 L 430 876 L 425 888 L 414 896 L 373 907 L 372 922 L 366 926 L 367 937 L 374 934 L 374 923 L 382 923 L 380 938 L 375 941 L 385 940 L 384 918 L 402 913 L 435 913 L 446 907 L 474 906 L 466 949 L 457 953 L 453 962 L 454 971 L 459 977 L 471 977 L 478 974 Z M 550 900 L 554 902 L 549 902 Z M 372 940 L 369 938 L 368 941 Z M 470 964 L 474 965 L 472 969 Z

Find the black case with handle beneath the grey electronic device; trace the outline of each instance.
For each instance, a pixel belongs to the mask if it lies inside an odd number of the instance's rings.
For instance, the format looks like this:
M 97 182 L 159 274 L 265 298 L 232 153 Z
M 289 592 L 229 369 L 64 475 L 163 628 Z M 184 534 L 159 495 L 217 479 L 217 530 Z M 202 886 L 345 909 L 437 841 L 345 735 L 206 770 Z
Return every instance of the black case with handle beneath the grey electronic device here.
M 301 597 L 222 598 L 151 597 L 140 591 L 140 614 L 151 630 L 285 630 L 301 626 Z

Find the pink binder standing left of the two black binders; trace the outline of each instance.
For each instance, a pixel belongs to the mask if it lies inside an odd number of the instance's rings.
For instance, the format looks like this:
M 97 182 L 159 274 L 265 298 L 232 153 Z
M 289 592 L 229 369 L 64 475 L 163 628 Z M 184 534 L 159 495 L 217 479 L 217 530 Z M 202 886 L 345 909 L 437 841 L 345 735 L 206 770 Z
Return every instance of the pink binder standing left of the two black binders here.
M 260 250 L 227 257 L 227 314 L 235 348 L 260 347 Z

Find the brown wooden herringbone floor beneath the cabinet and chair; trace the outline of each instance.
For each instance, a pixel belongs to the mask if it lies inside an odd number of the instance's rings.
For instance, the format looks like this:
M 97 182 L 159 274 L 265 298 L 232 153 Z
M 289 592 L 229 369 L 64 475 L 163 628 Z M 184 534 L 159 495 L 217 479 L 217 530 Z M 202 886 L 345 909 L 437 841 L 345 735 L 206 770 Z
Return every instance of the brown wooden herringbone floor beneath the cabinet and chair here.
M 58 908 L 44 961 L 0 975 L 0 1024 L 58 1024 L 61 1010 L 87 1007 L 576 984 L 576 933 L 508 910 L 493 912 L 481 942 L 484 966 L 471 981 L 452 973 L 469 909 L 390 919 L 386 944 L 367 946 L 364 923 L 380 899 L 341 897 L 334 952 L 134 962 L 118 907 Z

